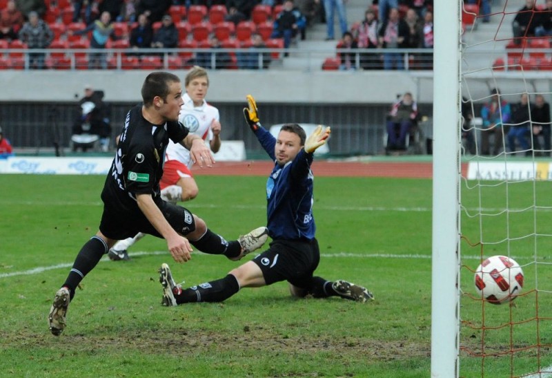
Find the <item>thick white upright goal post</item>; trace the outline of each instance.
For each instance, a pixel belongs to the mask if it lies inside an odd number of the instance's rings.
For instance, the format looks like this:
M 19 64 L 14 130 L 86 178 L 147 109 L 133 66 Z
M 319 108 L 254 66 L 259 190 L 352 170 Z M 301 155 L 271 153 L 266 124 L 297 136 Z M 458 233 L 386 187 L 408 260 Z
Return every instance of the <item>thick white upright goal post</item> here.
M 459 374 L 461 7 L 434 2 L 431 377 Z

